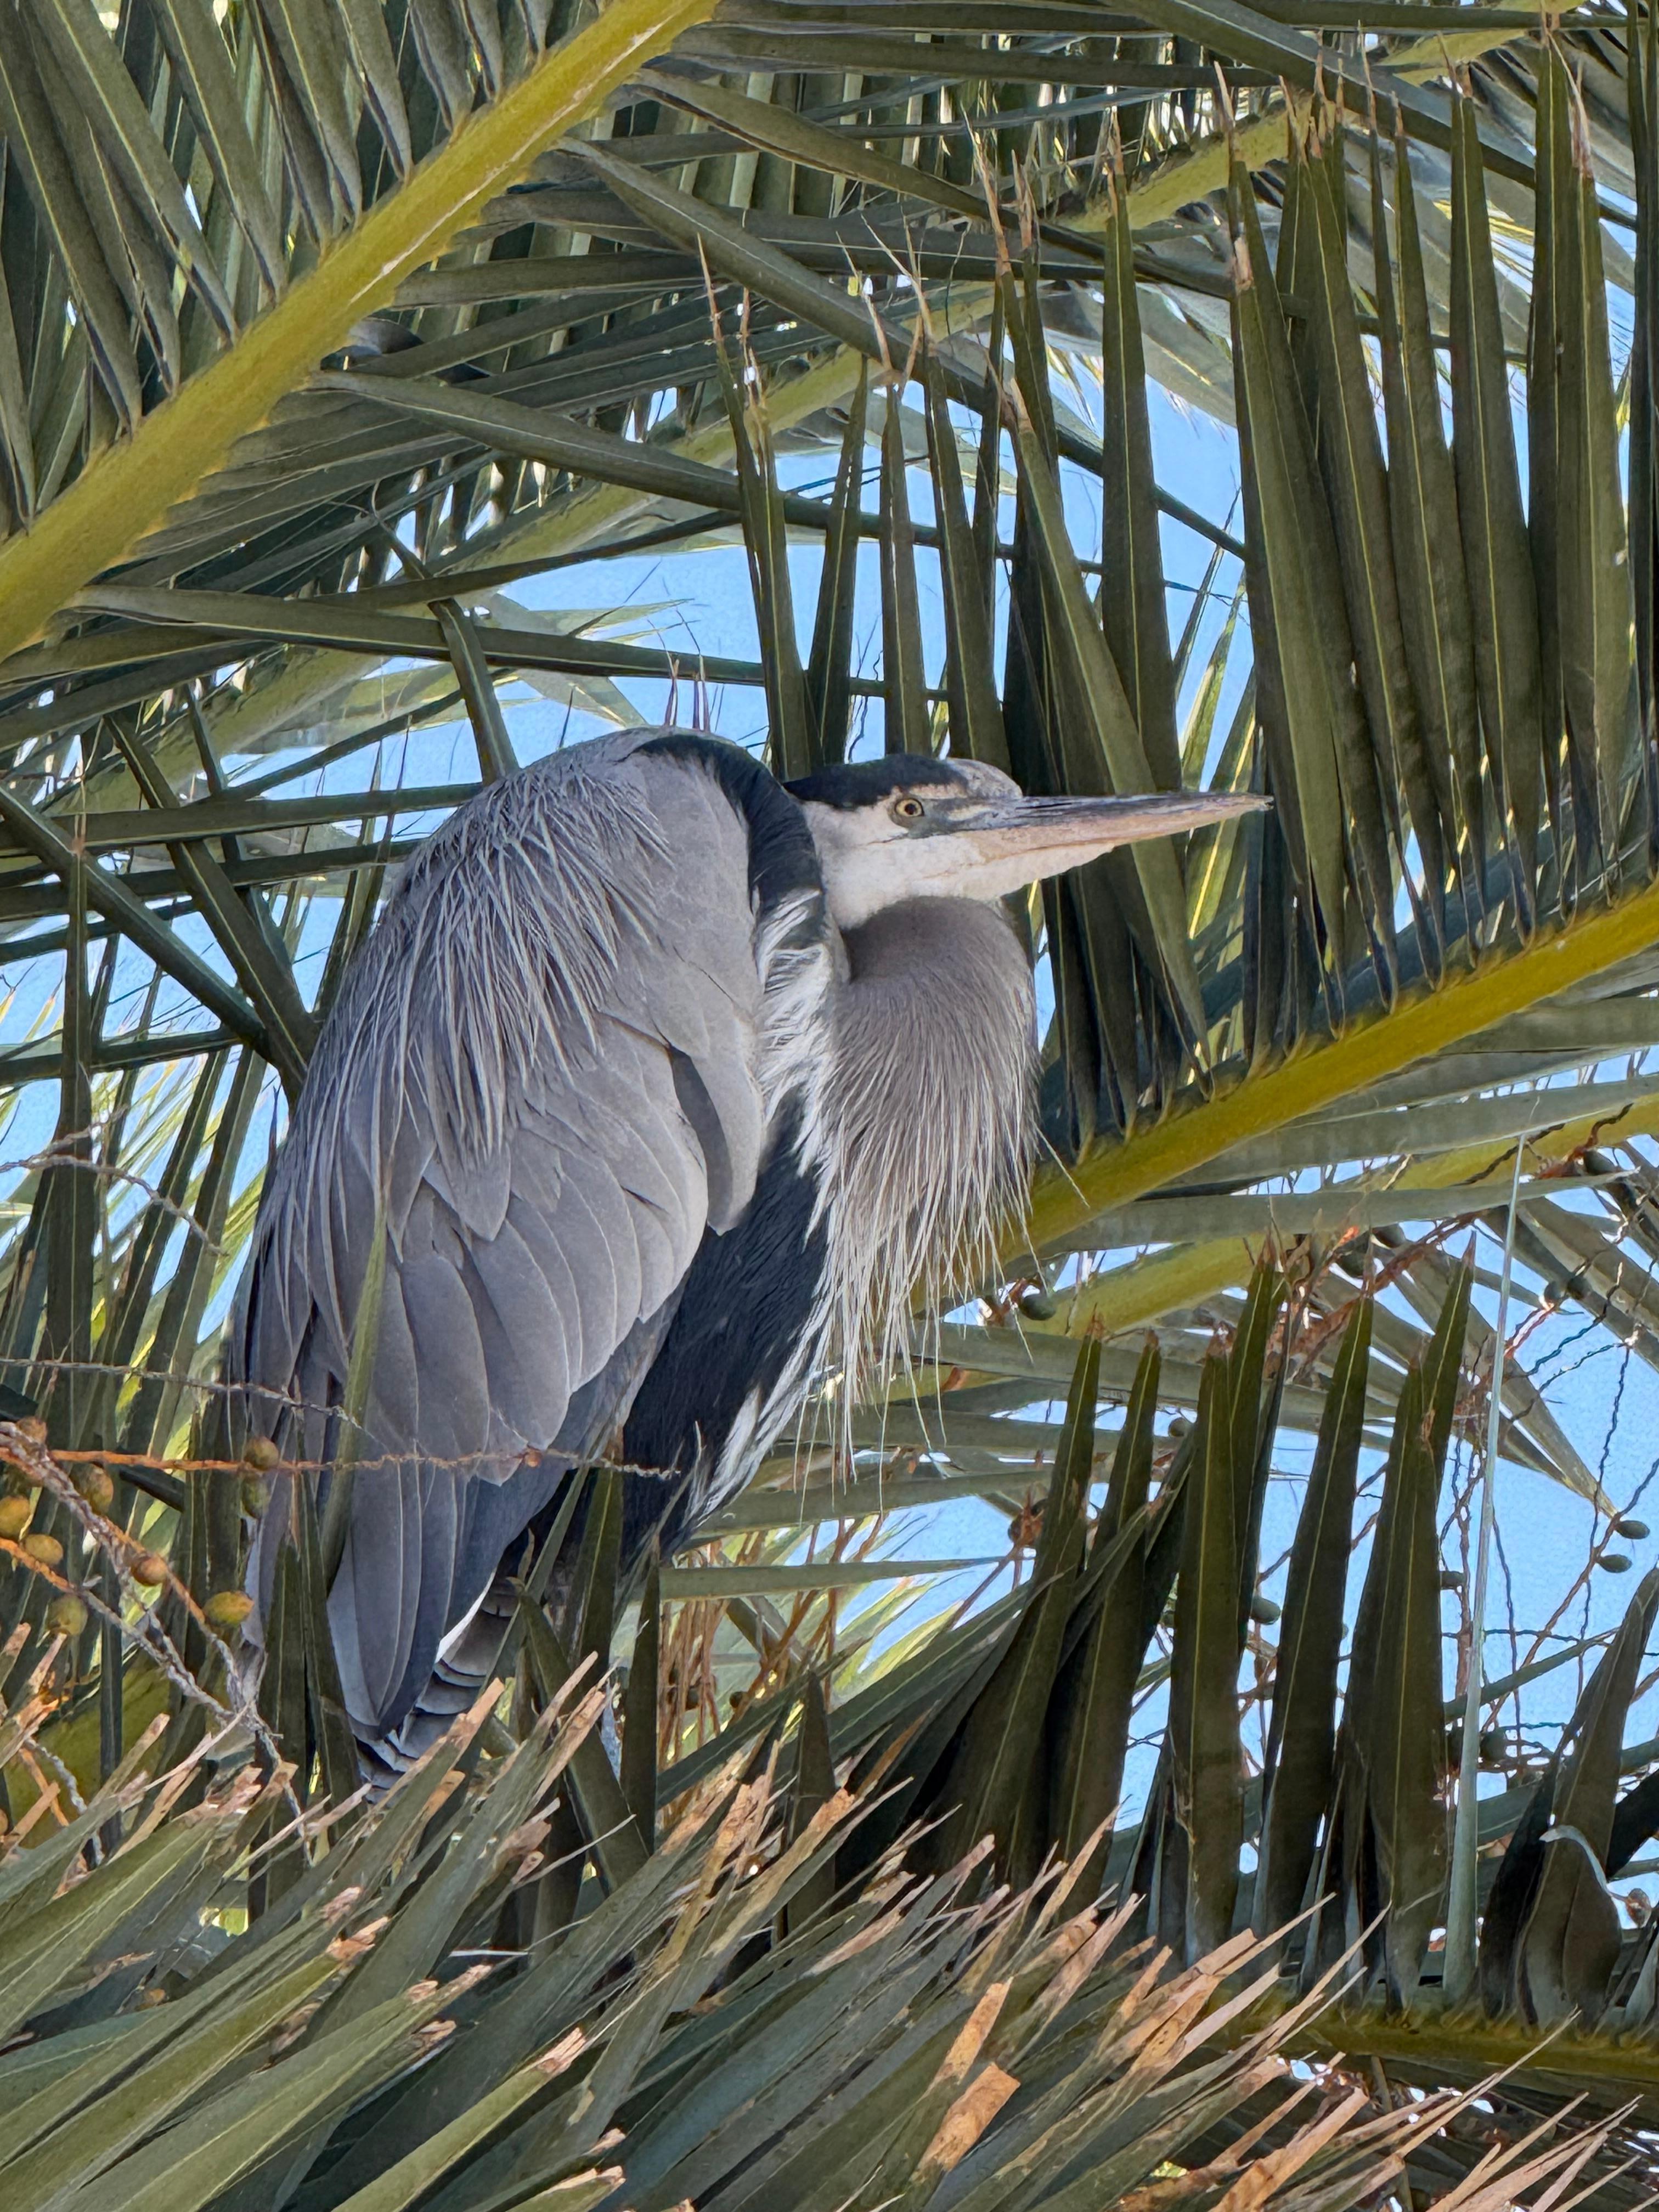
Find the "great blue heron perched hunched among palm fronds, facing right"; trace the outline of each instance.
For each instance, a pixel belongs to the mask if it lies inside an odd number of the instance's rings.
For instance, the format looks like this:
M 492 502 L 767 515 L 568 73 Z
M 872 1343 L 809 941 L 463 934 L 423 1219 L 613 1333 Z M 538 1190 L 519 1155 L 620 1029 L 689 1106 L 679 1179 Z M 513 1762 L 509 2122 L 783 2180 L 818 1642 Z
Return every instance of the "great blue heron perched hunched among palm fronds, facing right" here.
M 737 745 L 630 730 L 429 838 L 323 1026 L 228 1349 L 239 1436 L 330 1467 L 380 1281 L 327 1599 L 376 1765 L 476 1694 L 502 1559 L 573 1467 L 657 1471 L 626 1482 L 624 1551 L 672 1548 L 814 1374 L 989 1256 L 1035 1068 L 998 900 L 1250 805 L 1024 799 L 911 754 L 781 785 Z

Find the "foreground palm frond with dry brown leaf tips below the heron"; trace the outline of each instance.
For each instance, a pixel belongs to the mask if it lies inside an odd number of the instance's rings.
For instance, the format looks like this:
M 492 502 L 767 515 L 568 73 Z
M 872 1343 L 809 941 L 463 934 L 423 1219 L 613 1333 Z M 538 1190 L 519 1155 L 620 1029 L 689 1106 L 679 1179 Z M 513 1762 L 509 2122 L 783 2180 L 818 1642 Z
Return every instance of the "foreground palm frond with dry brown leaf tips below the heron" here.
M 1130 1916 L 1053 1876 L 1022 1898 L 975 1893 L 975 1856 L 927 1876 L 894 1851 L 823 1896 L 869 1801 L 832 1792 L 814 1809 L 805 1761 L 787 1790 L 728 1772 L 564 1940 L 500 1973 L 478 1944 L 560 1885 L 546 1792 L 597 1708 L 595 1692 L 549 1708 L 489 1787 L 484 1714 L 469 1714 L 252 1929 L 237 1924 L 250 1845 L 281 1781 L 186 1767 L 173 1796 L 195 1787 L 199 1805 L 168 1816 L 124 1767 L 15 1851 L 4 2024 L 35 2033 L 0 2055 L 7 2201 L 942 2212 L 1133 2203 L 1152 2185 L 1168 2205 L 1234 2192 L 1336 2212 L 1409 2150 L 1436 2159 L 1436 2130 L 1467 2110 L 1440 2095 L 1371 2115 L 1352 2081 L 1310 2104 L 1283 2053 L 1316 2000 L 1243 2037 L 1217 2011 L 1270 1991 L 1248 1933 L 1159 1975 Z M 128 1840 L 62 1893 L 122 1816 Z M 1190 2143 L 1186 2172 L 1170 2168 Z M 1447 2143 L 1462 2212 L 1597 2157 L 1595 2137 Z

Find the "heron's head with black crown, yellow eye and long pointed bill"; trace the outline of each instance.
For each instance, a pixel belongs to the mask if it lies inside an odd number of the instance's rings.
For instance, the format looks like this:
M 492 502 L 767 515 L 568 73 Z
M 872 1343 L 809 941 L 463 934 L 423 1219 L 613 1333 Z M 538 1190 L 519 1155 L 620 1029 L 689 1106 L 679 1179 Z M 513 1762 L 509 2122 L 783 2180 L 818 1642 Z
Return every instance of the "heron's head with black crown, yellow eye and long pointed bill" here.
M 821 768 L 787 790 L 807 816 L 841 929 L 909 898 L 995 900 L 1115 845 L 1267 805 L 1252 792 L 1026 799 L 1000 768 L 916 752 Z

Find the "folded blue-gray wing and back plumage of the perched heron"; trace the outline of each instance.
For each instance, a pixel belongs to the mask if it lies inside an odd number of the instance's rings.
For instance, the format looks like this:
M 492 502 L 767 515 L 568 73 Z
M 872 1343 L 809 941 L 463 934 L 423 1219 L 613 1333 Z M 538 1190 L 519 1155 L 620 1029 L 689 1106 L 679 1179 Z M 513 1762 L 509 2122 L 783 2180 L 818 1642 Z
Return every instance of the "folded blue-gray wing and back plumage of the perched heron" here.
M 504 779 L 422 847 L 319 1040 L 261 1203 L 228 1378 L 232 1418 L 241 1402 L 285 1458 L 336 1449 L 385 1234 L 330 1593 L 367 1732 L 398 1725 L 549 1495 L 538 1455 L 568 1462 L 622 1422 L 703 1230 L 754 1190 L 748 823 L 695 757 L 641 752 L 650 734 Z

